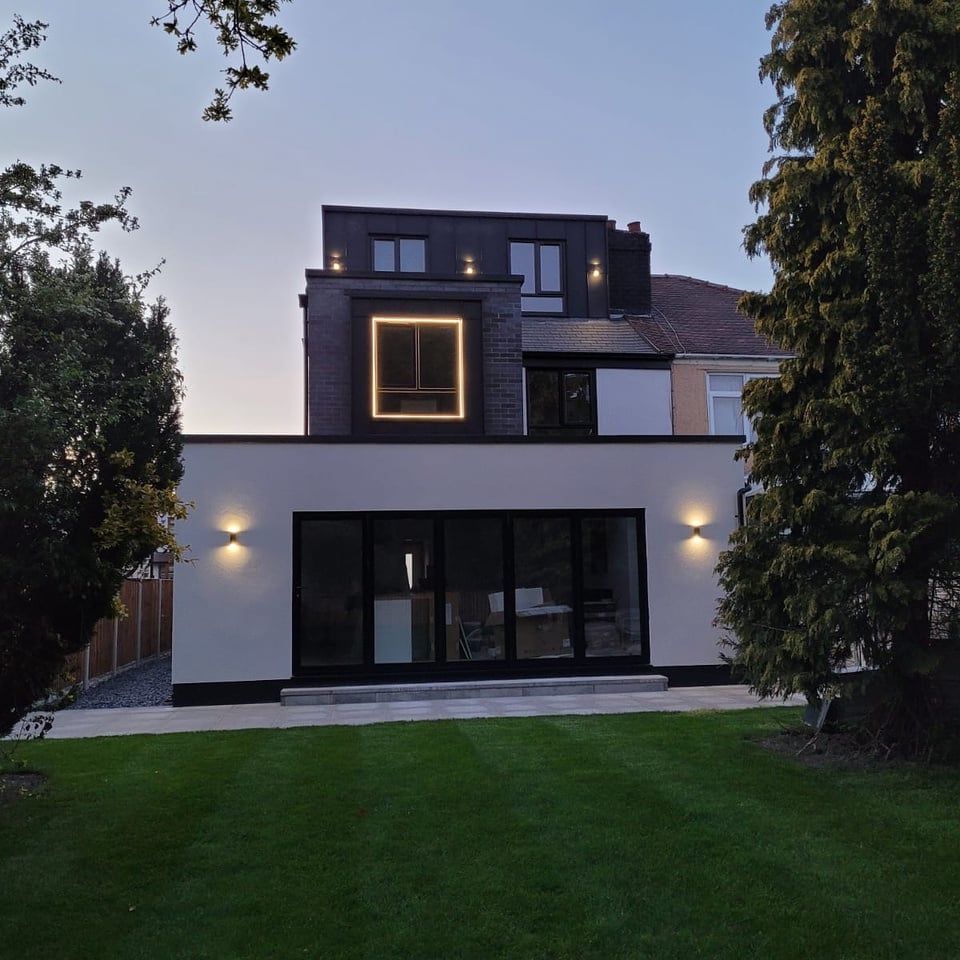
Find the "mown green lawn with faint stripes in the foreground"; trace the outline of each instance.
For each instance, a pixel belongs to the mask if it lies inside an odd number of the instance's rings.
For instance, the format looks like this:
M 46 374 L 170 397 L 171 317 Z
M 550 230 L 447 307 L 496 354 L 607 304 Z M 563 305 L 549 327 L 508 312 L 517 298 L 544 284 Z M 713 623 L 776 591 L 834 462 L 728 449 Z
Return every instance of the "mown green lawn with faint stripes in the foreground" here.
M 28 744 L 0 953 L 954 958 L 960 771 L 805 767 L 795 710 Z

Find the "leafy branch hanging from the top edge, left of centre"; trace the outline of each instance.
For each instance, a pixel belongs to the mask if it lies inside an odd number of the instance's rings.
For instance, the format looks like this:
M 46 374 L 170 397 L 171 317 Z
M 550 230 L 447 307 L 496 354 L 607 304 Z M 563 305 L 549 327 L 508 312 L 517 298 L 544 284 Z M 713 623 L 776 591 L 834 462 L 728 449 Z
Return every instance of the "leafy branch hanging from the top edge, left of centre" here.
M 176 38 L 181 54 L 197 49 L 197 29 L 209 25 L 224 56 L 239 59 L 223 72 L 226 89 L 217 87 L 213 100 L 203 111 L 204 120 L 230 120 L 230 99 L 237 90 L 253 87 L 266 90 L 270 74 L 257 65 L 283 60 L 293 53 L 296 43 L 276 23 L 283 3 L 290 0 L 167 0 L 165 13 L 153 17 L 152 26 L 162 27 Z

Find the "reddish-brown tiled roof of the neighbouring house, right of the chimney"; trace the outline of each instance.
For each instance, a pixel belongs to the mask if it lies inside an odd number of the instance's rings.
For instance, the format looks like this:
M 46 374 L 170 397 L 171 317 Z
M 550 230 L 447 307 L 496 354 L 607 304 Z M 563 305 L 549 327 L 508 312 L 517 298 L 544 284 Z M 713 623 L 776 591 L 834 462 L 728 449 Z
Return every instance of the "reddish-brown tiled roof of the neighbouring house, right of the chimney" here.
M 737 357 L 783 356 L 737 313 L 742 290 L 693 277 L 654 274 L 652 315 L 629 317 L 637 333 L 663 353 Z

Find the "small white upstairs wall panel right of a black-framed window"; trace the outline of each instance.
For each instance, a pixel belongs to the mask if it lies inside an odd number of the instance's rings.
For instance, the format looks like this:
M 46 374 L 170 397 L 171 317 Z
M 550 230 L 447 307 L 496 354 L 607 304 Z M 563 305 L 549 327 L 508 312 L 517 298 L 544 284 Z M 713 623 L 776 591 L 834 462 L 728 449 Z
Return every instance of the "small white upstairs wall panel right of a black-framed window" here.
M 669 370 L 597 370 L 602 437 L 673 433 Z

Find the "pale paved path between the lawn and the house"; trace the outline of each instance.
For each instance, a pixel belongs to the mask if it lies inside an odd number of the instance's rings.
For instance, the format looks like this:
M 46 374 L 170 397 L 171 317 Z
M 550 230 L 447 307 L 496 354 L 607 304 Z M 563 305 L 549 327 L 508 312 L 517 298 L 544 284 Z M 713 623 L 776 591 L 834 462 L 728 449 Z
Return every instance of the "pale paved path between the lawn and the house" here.
M 803 700 L 795 697 L 788 703 L 802 705 Z M 279 703 L 225 704 L 213 707 L 128 707 L 61 711 L 47 737 L 51 740 L 67 740 L 131 733 L 320 727 L 469 717 L 742 710 L 748 707 L 779 705 L 779 700 L 758 700 L 745 686 L 717 686 L 674 687 L 671 690 L 644 693 L 490 697 L 297 707 L 284 707 Z

